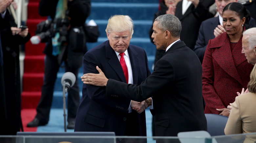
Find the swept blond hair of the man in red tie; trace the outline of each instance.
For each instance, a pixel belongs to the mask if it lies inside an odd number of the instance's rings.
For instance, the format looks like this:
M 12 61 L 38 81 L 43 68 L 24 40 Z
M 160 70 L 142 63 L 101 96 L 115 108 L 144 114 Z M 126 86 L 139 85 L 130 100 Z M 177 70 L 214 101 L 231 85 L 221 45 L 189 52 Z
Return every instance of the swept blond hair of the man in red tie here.
M 111 33 L 111 31 L 115 32 L 123 32 L 126 30 L 130 30 L 131 36 L 133 35 L 133 20 L 128 15 L 114 15 L 111 16 L 108 20 L 108 25 L 106 28 L 106 32 L 108 34 Z

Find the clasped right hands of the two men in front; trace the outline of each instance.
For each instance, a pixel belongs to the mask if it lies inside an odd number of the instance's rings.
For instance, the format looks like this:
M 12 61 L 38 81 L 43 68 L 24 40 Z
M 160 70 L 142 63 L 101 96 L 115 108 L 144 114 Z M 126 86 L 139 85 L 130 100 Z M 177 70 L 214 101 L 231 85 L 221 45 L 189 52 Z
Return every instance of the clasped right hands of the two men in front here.
M 152 98 L 148 98 L 145 101 L 142 102 L 136 102 L 133 101 L 131 102 L 131 107 L 133 110 L 138 112 L 139 114 L 147 109 L 148 106 L 152 105 Z

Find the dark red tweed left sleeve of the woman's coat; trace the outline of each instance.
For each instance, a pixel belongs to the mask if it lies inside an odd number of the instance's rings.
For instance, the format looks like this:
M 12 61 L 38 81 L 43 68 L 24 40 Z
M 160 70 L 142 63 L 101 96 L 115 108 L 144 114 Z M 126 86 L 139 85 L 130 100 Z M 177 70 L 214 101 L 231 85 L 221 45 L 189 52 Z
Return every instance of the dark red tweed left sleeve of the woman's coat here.
M 219 114 L 220 112 L 216 109 L 226 108 L 222 103 L 220 97 L 217 95 L 213 85 L 214 85 L 214 66 L 211 52 L 211 40 L 209 40 L 207 48 L 205 50 L 203 58 L 203 98 L 209 110 L 213 114 Z

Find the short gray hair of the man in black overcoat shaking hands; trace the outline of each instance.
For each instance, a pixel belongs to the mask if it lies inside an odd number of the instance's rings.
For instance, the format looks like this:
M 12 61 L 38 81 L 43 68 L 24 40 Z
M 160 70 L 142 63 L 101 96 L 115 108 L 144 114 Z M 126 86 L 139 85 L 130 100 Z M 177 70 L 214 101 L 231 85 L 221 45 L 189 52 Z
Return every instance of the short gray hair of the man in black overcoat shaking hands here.
M 155 21 L 158 21 L 157 27 L 161 31 L 169 31 L 173 38 L 179 38 L 181 34 L 181 22 L 172 14 L 164 14 L 158 16 Z

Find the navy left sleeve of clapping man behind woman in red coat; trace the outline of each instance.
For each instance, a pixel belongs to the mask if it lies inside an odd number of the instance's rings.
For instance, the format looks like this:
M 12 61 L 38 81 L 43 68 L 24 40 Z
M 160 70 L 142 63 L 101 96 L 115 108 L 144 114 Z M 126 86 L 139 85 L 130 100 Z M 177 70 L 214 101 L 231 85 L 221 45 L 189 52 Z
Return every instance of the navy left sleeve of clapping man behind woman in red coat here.
M 203 34 L 203 26 L 204 26 L 204 23 L 202 23 L 200 26 L 199 33 L 198 33 L 198 39 L 196 41 L 196 45 L 195 45 L 195 49 L 194 49 L 194 52 L 198 56 L 201 63 L 203 63 L 203 56 L 205 53 L 205 49 L 207 47 L 207 44 L 204 42 L 205 39 L 204 39 L 204 34 Z

